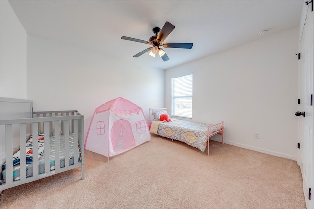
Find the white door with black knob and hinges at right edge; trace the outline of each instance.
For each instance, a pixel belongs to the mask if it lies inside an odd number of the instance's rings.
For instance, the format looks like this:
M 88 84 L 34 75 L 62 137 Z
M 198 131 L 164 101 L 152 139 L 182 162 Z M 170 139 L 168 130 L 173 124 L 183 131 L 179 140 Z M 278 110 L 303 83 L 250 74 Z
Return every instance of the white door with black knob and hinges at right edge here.
M 299 43 L 301 60 L 299 67 L 299 111 L 305 112 L 305 117 L 299 116 L 299 143 L 300 150 L 298 164 L 303 177 L 303 191 L 307 208 L 314 208 L 314 138 L 313 138 L 313 13 L 311 4 L 307 6 L 306 18 L 304 18 L 303 31 Z M 311 188 L 311 200 L 309 199 L 309 188 Z

